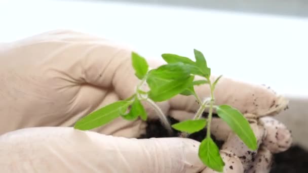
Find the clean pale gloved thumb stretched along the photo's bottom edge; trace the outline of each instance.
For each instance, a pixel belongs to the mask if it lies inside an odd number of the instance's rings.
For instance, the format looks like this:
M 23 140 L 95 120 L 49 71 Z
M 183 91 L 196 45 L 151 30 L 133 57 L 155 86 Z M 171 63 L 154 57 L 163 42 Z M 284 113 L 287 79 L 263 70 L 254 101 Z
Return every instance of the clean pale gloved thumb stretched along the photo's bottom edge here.
M 71 127 L 25 128 L 0 136 L 2 172 L 200 172 L 200 143 L 127 139 Z

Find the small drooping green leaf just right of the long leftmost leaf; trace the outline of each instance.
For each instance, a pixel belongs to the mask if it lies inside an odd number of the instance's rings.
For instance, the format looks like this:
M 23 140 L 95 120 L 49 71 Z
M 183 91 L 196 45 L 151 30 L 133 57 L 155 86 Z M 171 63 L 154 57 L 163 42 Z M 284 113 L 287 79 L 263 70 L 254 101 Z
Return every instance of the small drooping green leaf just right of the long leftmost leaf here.
M 129 121 L 136 120 L 138 116 L 141 117 L 142 120 L 147 119 L 147 114 L 144 110 L 144 107 L 142 106 L 140 100 L 137 98 L 134 100 L 133 104 L 131 105 L 131 109 L 128 114 L 122 115 L 124 119 L 127 119 Z

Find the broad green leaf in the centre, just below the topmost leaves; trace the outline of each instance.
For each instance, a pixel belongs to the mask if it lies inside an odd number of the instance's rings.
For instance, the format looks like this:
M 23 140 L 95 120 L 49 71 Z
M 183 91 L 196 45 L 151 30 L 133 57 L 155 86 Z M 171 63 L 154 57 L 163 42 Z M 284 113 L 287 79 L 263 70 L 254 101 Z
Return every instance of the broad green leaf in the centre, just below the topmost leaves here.
M 150 87 L 149 98 L 155 102 L 162 102 L 183 92 L 194 80 L 194 76 L 180 80 L 156 80 L 147 78 Z

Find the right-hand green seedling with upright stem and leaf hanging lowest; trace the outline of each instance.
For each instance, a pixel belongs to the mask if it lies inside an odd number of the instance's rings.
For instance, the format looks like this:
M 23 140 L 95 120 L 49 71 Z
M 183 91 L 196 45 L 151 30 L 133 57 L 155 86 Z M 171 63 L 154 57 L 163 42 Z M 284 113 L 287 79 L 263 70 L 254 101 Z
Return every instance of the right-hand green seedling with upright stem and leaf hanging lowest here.
M 249 125 L 247 119 L 243 114 L 237 109 L 229 105 L 214 105 L 214 90 L 215 86 L 218 83 L 221 75 L 216 78 L 214 82 L 210 80 L 211 69 L 207 66 L 204 55 L 198 51 L 194 50 L 196 62 L 191 61 L 186 57 L 180 57 L 173 54 L 163 54 L 163 58 L 167 63 L 174 63 L 176 61 L 186 63 L 187 68 L 190 68 L 192 74 L 202 76 L 204 80 L 194 81 L 193 84 L 189 86 L 182 95 L 193 95 L 198 103 L 200 108 L 197 111 L 193 120 L 186 120 L 176 124 L 173 124 L 172 127 L 178 131 L 193 134 L 199 132 L 205 126 L 207 126 L 206 138 L 201 142 L 199 147 L 199 157 L 205 165 L 216 171 L 222 171 L 224 162 L 219 154 L 219 149 L 214 141 L 211 139 L 211 120 L 213 109 L 216 109 L 218 116 L 223 119 L 235 132 L 239 138 L 250 148 L 251 150 L 257 149 L 257 139 Z M 203 101 L 194 91 L 195 84 L 207 84 L 210 89 L 210 97 L 205 98 Z M 201 118 L 204 110 L 208 108 L 208 117 L 207 119 Z M 182 136 L 187 136 L 183 134 Z

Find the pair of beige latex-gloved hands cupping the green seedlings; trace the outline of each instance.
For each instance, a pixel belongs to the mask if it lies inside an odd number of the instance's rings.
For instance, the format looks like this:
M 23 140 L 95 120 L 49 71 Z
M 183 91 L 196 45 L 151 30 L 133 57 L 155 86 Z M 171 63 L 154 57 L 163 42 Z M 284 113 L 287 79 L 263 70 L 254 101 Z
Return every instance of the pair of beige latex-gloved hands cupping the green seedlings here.
M 2 172 L 212 172 L 198 158 L 197 141 L 134 139 L 145 133 L 146 122 L 140 119 L 118 118 L 94 132 L 69 127 L 134 93 L 138 78 L 131 66 L 131 51 L 67 30 L 2 44 Z M 198 86 L 196 93 L 201 98 L 209 96 L 209 91 Z M 232 105 L 245 113 L 260 144 L 258 152 L 249 151 L 224 122 L 213 119 L 213 135 L 225 141 L 221 150 L 224 172 L 244 172 L 250 167 L 250 171 L 268 171 L 270 161 L 262 157 L 286 150 L 291 136 L 283 124 L 265 116 L 279 113 L 287 101 L 263 86 L 228 78 L 219 80 L 214 95 L 216 104 Z M 198 109 L 194 97 L 187 96 L 158 105 L 178 120 L 191 118 Z M 145 108 L 148 119 L 157 118 L 155 111 Z

